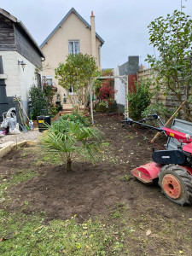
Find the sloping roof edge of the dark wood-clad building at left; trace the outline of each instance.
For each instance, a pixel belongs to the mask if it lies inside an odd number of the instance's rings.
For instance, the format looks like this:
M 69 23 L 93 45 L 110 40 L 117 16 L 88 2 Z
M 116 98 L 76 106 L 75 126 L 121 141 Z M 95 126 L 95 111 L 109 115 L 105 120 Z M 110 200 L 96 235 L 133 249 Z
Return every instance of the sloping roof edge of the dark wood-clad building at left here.
M 20 29 L 26 33 L 26 36 L 32 41 L 32 44 L 35 46 L 36 49 L 38 49 L 39 54 L 45 58 L 44 53 L 42 52 L 42 50 L 39 48 L 38 44 L 36 43 L 35 39 L 32 38 L 31 33 L 26 29 L 26 26 L 22 23 L 22 21 L 17 20 L 17 18 L 14 15 L 10 15 L 9 12 L 7 12 L 4 9 L 0 8 L 0 15 L 5 16 L 6 18 L 8 18 L 9 20 L 12 20 L 15 24 L 17 24 L 17 26 L 20 27 Z

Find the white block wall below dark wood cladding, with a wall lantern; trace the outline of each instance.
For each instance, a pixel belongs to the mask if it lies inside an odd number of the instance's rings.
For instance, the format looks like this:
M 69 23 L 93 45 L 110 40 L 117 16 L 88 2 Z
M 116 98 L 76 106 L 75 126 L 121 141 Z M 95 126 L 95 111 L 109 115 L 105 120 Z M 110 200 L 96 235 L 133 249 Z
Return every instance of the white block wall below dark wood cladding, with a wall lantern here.
M 15 106 L 13 96 L 16 95 L 20 96 L 23 107 L 27 112 L 28 90 L 32 84 L 37 85 L 36 67 L 16 51 L 2 51 L 0 55 L 2 55 L 3 59 L 3 73 L 6 76 L 5 84 L 9 108 Z M 26 63 L 24 71 L 18 65 L 18 61 Z

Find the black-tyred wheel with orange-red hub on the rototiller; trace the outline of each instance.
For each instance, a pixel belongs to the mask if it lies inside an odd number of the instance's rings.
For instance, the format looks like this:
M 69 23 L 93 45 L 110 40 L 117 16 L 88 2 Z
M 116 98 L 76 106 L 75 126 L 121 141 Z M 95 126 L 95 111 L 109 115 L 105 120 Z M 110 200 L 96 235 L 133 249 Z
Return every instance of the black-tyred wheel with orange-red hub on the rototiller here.
M 169 200 L 181 206 L 192 203 L 192 175 L 186 169 L 166 165 L 158 176 L 160 188 Z

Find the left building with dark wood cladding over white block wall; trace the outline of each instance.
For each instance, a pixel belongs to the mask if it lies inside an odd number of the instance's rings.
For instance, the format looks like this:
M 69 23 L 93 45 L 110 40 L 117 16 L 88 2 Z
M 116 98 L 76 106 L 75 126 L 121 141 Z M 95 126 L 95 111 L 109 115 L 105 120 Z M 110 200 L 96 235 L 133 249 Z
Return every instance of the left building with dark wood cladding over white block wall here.
M 27 111 L 30 86 L 41 86 L 43 59 L 43 52 L 26 26 L 0 9 L 0 121 L 3 112 L 15 107 L 15 95 L 20 96 Z

